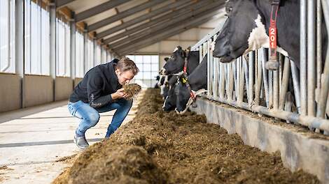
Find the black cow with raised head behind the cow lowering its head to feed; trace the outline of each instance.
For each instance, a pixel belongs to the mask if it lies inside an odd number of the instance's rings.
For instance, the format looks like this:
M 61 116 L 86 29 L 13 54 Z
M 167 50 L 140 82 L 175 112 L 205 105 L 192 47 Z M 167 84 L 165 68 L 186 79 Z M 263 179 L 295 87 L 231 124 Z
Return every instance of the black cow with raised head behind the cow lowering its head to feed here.
M 174 75 L 183 71 L 186 51 L 181 46 L 176 47 L 172 56 L 167 60 L 165 66 L 160 70 L 162 75 Z M 187 73 L 190 74 L 199 65 L 199 52 L 192 51 L 188 54 Z

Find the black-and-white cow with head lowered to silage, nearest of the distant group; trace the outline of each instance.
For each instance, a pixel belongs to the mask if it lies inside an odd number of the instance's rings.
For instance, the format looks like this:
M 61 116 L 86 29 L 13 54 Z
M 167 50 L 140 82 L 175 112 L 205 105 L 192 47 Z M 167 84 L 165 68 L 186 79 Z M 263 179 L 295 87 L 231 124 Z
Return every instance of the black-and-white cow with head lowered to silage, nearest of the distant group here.
M 195 70 L 188 75 L 188 83 L 195 96 L 207 91 L 207 54 L 202 59 Z M 190 91 L 183 81 L 183 76 L 179 78 L 179 84 L 175 88 L 176 93 L 176 112 L 183 114 L 193 102 L 190 97 Z

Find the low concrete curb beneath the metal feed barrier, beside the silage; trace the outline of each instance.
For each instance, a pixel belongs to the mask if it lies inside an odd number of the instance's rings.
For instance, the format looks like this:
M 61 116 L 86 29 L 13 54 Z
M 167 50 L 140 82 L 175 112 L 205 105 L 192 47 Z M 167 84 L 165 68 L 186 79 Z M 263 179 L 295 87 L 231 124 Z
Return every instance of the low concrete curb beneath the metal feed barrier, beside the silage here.
M 197 107 L 190 109 L 205 114 L 207 121 L 229 134 L 237 133 L 244 144 L 269 153 L 280 151 L 283 164 L 291 171 L 303 169 L 318 176 L 321 183 L 329 183 L 329 139 L 314 139 L 293 126 L 275 125 L 272 118 L 258 118 L 251 112 L 228 107 L 200 98 Z

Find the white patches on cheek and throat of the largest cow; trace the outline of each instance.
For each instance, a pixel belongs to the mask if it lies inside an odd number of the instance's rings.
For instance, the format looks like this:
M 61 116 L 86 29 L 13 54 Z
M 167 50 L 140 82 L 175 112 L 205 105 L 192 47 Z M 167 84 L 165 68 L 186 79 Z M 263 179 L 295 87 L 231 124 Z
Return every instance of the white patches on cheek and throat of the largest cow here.
M 255 28 L 251 31 L 248 38 L 248 49 L 244 52 L 247 54 L 252 50 L 259 49 L 260 47 L 269 48 L 269 36 L 266 34 L 265 25 L 262 24 L 261 17 L 258 14 L 257 19 L 255 20 Z M 286 52 L 281 47 L 277 47 L 277 51 L 283 54 L 284 56 L 288 56 L 288 52 Z

